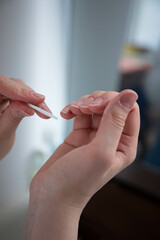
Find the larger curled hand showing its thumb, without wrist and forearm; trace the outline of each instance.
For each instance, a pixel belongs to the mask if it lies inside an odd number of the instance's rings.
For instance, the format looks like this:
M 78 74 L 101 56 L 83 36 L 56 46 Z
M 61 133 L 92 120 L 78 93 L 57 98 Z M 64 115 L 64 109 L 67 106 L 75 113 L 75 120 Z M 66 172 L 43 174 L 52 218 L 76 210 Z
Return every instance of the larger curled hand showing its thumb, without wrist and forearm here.
M 75 116 L 73 131 L 35 180 L 43 176 L 50 193 L 65 192 L 65 201 L 85 205 L 99 188 L 135 159 L 140 125 L 136 99 L 131 90 L 94 92 L 69 104 L 61 115 L 66 119 Z M 129 101 L 133 102 L 131 106 Z

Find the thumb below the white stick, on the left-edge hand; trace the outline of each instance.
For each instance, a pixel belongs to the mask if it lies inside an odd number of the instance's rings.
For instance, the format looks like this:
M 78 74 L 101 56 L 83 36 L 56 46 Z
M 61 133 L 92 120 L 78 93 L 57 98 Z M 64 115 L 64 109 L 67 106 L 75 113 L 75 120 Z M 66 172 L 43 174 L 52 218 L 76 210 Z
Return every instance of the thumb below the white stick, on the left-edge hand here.
M 32 115 L 34 115 L 34 110 L 23 102 L 11 102 L 0 118 L 0 137 L 7 138 L 11 136 L 15 133 L 21 120 Z

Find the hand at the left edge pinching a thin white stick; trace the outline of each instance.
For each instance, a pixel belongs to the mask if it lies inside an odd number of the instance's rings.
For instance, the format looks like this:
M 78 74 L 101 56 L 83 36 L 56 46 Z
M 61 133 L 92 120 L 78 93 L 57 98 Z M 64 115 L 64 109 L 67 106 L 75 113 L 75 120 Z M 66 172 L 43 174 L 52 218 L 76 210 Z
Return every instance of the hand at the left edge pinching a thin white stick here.
M 26 116 L 32 116 L 34 110 L 24 102 L 29 102 L 46 111 L 45 97 L 26 86 L 22 80 L 0 76 L 0 159 L 12 148 L 16 128 Z M 43 114 L 40 117 L 47 118 Z

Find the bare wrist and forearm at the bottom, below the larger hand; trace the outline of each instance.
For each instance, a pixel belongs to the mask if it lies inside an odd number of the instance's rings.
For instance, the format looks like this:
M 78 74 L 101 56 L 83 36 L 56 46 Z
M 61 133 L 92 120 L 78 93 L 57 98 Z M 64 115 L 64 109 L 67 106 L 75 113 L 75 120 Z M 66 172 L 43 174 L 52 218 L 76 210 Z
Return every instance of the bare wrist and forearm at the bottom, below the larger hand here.
M 79 211 L 31 197 L 23 240 L 77 240 L 79 218 Z

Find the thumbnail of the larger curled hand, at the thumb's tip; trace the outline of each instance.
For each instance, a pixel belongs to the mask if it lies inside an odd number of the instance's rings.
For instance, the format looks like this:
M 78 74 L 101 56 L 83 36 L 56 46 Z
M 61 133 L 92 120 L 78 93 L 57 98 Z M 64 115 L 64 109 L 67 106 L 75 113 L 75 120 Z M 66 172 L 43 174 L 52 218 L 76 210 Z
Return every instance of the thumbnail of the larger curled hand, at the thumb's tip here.
M 137 94 L 126 93 L 122 95 L 120 99 L 120 104 L 125 107 L 127 110 L 130 110 L 135 101 L 138 99 Z

